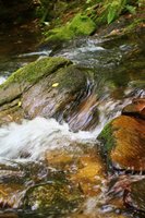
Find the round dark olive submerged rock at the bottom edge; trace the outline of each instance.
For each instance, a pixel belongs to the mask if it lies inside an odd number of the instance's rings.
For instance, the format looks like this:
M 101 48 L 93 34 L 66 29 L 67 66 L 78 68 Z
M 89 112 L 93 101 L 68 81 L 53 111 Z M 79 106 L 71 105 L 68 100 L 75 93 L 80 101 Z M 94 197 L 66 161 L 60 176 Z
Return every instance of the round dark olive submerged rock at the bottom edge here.
M 77 208 L 82 199 L 78 189 L 64 181 L 52 181 L 29 189 L 26 192 L 24 205 L 25 208 L 41 211 L 47 216 L 65 215 Z

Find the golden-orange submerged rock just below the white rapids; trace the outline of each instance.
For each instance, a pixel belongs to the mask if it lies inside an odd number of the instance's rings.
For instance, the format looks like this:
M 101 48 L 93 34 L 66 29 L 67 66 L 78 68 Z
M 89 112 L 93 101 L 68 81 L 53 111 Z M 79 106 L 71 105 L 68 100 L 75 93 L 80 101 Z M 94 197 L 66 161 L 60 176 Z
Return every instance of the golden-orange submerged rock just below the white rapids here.
M 80 186 L 85 196 L 100 193 L 106 164 L 93 145 L 72 143 L 68 148 L 48 150 L 46 159 L 50 167 L 67 171 L 68 180 Z

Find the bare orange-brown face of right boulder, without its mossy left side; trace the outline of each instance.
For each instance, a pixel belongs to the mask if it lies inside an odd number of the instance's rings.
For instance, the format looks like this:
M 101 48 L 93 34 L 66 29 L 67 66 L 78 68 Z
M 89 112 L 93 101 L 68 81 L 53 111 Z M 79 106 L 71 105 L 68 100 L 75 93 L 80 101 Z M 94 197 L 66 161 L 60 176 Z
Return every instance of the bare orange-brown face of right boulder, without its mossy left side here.
M 145 170 L 145 121 L 121 116 L 112 122 L 113 164 L 130 170 Z

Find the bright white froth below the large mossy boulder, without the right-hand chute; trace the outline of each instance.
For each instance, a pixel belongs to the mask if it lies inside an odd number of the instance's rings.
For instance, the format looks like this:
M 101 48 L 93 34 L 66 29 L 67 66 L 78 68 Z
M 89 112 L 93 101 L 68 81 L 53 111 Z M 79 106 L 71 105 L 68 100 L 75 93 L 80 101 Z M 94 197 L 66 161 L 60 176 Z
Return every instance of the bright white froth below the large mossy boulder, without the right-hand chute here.
M 87 143 L 95 140 L 88 132 L 72 133 L 67 123 L 55 119 L 36 118 L 22 124 L 11 123 L 0 129 L 0 159 L 36 160 L 46 150 L 69 146 L 70 142 Z

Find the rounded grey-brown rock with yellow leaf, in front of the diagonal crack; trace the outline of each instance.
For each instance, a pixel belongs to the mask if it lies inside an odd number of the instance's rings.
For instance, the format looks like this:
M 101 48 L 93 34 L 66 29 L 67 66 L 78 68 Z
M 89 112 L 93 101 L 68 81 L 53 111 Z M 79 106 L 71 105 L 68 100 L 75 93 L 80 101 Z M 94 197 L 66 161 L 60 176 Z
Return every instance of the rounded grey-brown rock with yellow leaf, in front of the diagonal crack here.
M 71 64 L 41 78 L 22 97 L 22 107 L 26 114 L 29 118 L 53 117 L 57 112 L 64 114 L 65 106 L 74 102 L 80 92 L 85 90 L 85 73 Z

